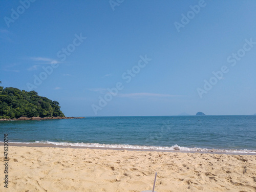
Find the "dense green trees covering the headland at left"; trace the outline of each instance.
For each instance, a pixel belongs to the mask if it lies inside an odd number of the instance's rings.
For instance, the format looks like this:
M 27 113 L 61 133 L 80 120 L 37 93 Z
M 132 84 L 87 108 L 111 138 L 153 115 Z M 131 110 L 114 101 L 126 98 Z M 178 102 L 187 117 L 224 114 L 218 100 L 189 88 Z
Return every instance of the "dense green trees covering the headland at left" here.
M 0 81 L 1 82 L 1 81 Z M 19 117 L 64 117 L 57 101 L 39 96 L 35 91 L 0 87 L 0 119 Z

